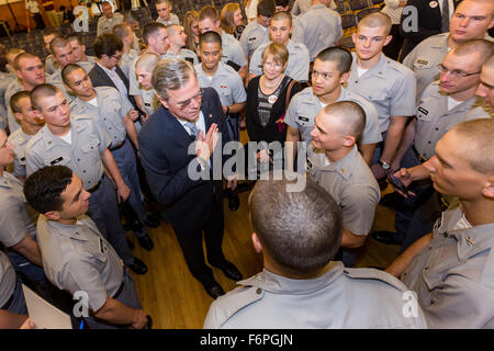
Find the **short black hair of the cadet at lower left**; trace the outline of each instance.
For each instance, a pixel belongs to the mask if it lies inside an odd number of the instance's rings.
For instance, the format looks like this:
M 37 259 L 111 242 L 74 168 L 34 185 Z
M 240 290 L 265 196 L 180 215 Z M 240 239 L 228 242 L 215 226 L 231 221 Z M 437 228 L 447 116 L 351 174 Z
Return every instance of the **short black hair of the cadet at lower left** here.
M 72 182 L 72 171 L 66 166 L 47 166 L 32 173 L 24 183 L 27 203 L 41 214 L 61 211 L 61 193 Z

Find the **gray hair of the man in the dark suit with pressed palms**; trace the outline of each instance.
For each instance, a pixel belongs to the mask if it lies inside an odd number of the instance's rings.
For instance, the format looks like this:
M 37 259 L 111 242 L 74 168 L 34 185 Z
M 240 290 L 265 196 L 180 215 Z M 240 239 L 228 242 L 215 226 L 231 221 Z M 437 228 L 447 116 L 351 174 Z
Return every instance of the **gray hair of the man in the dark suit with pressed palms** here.
M 151 84 L 161 99 L 168 100 L 168 90 L 182 88 L 192 76 L 195 76 L 195 69 L 188 61 L 165 58 L 153 70 Z

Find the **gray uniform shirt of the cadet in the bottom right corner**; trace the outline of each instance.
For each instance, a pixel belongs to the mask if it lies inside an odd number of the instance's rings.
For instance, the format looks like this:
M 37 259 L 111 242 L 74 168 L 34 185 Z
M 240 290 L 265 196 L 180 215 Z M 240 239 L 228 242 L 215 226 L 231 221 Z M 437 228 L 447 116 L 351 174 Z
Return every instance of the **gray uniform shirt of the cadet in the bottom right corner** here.
M 494 224 L 457 229 L 463 213 L 448 208 L 433 240 L 401 280 L 417 293 L 430 328 L 494 328 Z

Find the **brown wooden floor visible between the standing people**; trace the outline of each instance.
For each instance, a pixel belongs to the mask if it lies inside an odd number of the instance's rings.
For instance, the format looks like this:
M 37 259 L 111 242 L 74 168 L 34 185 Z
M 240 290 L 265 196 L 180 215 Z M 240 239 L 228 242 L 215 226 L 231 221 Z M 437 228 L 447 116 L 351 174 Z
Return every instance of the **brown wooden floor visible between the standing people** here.
M 240 194 L 240 207 L 232 212 L 227 203 L 225 210 L 225 236 L 223 248 L 226 258 L 248 278 L 262 269 L 250 240 L 250 225 L 247 208 L 248 193 Z M 394 213 L 378 206 L 374 229 L 394 230 Z M 154 320 L 154 328 L 190 329 L 202 328 L 205 315 L 213 299 L 202 285 L 189 273 L 177 238 L 171 227 L 161 222 L 161 226 L 149 229 L 155 248 L 148 252 L 142 249 L 134 236 L 128 238 L 135 244 L 134 254 L 149 268 L 145 275 L 134 274 L 141 303 Z M 371 237 L 358 250 L 356 267 L 385 268 L 397 256 L 398 246 L 386 246 Z M 235 287 L 235 282 L 226 279 L 218 269 L 213 269 L 216 281 L 225 291 Z

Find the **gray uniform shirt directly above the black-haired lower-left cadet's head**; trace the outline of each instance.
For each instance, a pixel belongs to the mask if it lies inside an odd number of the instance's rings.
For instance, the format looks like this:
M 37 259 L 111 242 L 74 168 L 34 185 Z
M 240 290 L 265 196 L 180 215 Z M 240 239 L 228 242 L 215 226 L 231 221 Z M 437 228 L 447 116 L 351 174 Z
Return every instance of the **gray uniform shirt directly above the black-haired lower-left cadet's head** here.
M 112 143 L 110 135 L 91 116 L 71 115 L 72 144 L 49 132 L 45 125 L 31 139 L 26 148 L 27 176 L 45 166 L 67 166 L 82 180 L 86 190 L 91 189 L 103 176 L 103 152 Z

